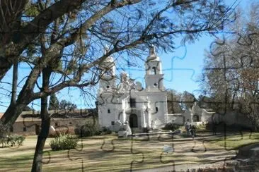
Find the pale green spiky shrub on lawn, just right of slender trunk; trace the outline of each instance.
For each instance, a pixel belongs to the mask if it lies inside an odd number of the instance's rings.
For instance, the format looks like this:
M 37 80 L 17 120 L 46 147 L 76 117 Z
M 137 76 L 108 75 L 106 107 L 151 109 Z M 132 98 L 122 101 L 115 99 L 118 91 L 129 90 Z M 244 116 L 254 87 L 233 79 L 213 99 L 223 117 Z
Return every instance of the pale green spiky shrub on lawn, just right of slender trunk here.
M 50 141 L 50 147 L 52 150 L 67 150 L 74 149 L 77 146 L 79 138 L 76 135 L 59 135 Z

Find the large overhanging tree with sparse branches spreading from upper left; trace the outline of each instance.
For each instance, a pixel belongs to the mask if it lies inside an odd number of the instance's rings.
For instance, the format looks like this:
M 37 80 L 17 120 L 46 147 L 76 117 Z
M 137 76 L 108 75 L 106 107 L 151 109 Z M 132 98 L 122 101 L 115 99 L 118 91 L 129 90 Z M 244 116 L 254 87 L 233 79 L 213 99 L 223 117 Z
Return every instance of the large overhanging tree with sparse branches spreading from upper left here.
M 105 73 L 98 65 L 112 54 L 123 64 L 127 61 L 120 54 L 139 58 L 151 44 L 173 51 L 175 37 L 192 42 L 203 32 L 222 30 L 233 19 L 233 6 L 221 0 L 0 2 L 0 80 L 14 61 L 31 68 L 16 101 L 1 118 L 4 128 L 35 99 L 65 87 L 86 92 L 84 87 L 96 85 Z M 50 83 L 40 87 L 43 71 Z

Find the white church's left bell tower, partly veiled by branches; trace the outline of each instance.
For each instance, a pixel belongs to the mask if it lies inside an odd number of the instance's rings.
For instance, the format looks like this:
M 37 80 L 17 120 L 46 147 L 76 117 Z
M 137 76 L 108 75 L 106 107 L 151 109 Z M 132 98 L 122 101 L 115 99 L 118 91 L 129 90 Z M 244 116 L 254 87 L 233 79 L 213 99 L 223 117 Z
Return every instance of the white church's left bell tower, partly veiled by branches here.
M 104 53 L 108 52 L 108 47 L 105 47 Z M 99 89 L 103 91 L 111 90 L 116 86 L 115 78 L 115 61 L 112 56 L 108 56 L 102 63 L 99 65 L 100 70 L 102 71 L 102 76 L 99 82 Z

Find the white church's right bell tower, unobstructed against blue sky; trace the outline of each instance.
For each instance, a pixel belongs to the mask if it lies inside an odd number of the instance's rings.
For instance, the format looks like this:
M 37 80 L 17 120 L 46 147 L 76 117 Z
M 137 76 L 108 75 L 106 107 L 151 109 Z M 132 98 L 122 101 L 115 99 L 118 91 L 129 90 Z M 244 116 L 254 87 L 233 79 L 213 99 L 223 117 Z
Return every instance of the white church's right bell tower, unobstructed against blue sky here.
M 146 88 L 164 90 L 162 65 L 153 45 L 149 49 L 149 56 L 146 59 L 145 68 Z

